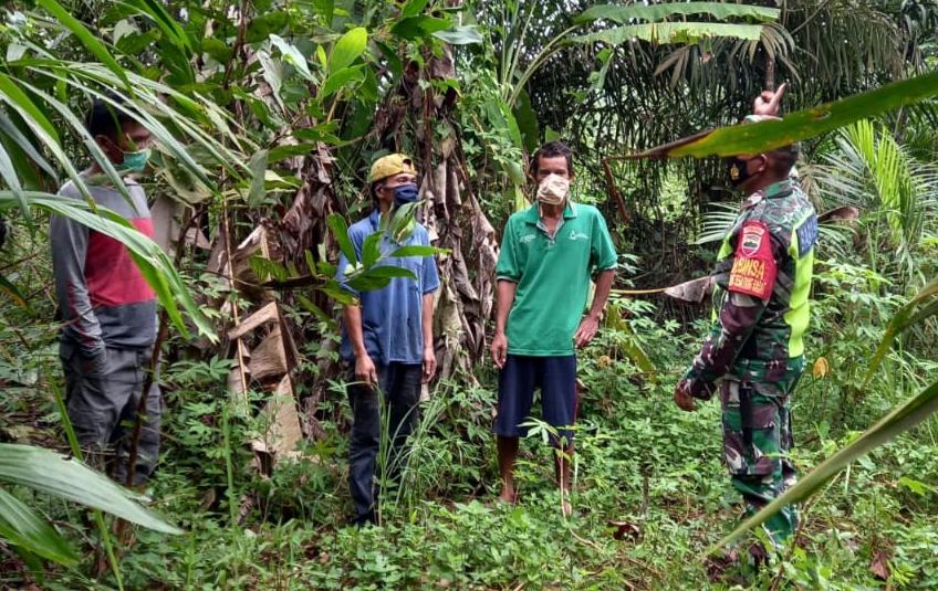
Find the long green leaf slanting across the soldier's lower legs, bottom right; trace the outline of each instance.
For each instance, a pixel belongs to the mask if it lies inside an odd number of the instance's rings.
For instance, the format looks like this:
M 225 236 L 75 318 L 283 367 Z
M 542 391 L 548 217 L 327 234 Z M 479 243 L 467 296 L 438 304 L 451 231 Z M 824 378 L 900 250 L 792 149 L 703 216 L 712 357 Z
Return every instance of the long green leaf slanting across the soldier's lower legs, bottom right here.
M 822 462 L 782 496 L 743 521 L 738 528 L 711 547 L 707 553 L 716 552 L 721 547 L 732 543 L 750 529 L 764 524 L 783 507 L 804 500 L 824 486 L 827 481 L 847 464 L 865 455 L 871 450 L 887 443 L 904 431 L 908 431 L 921 421 L 925 421 L 935 411 L 938 411 L 938 382 L 932 383 L 919 394 L 896 407 L 879 422 L 867 429 L 853 443 Z

